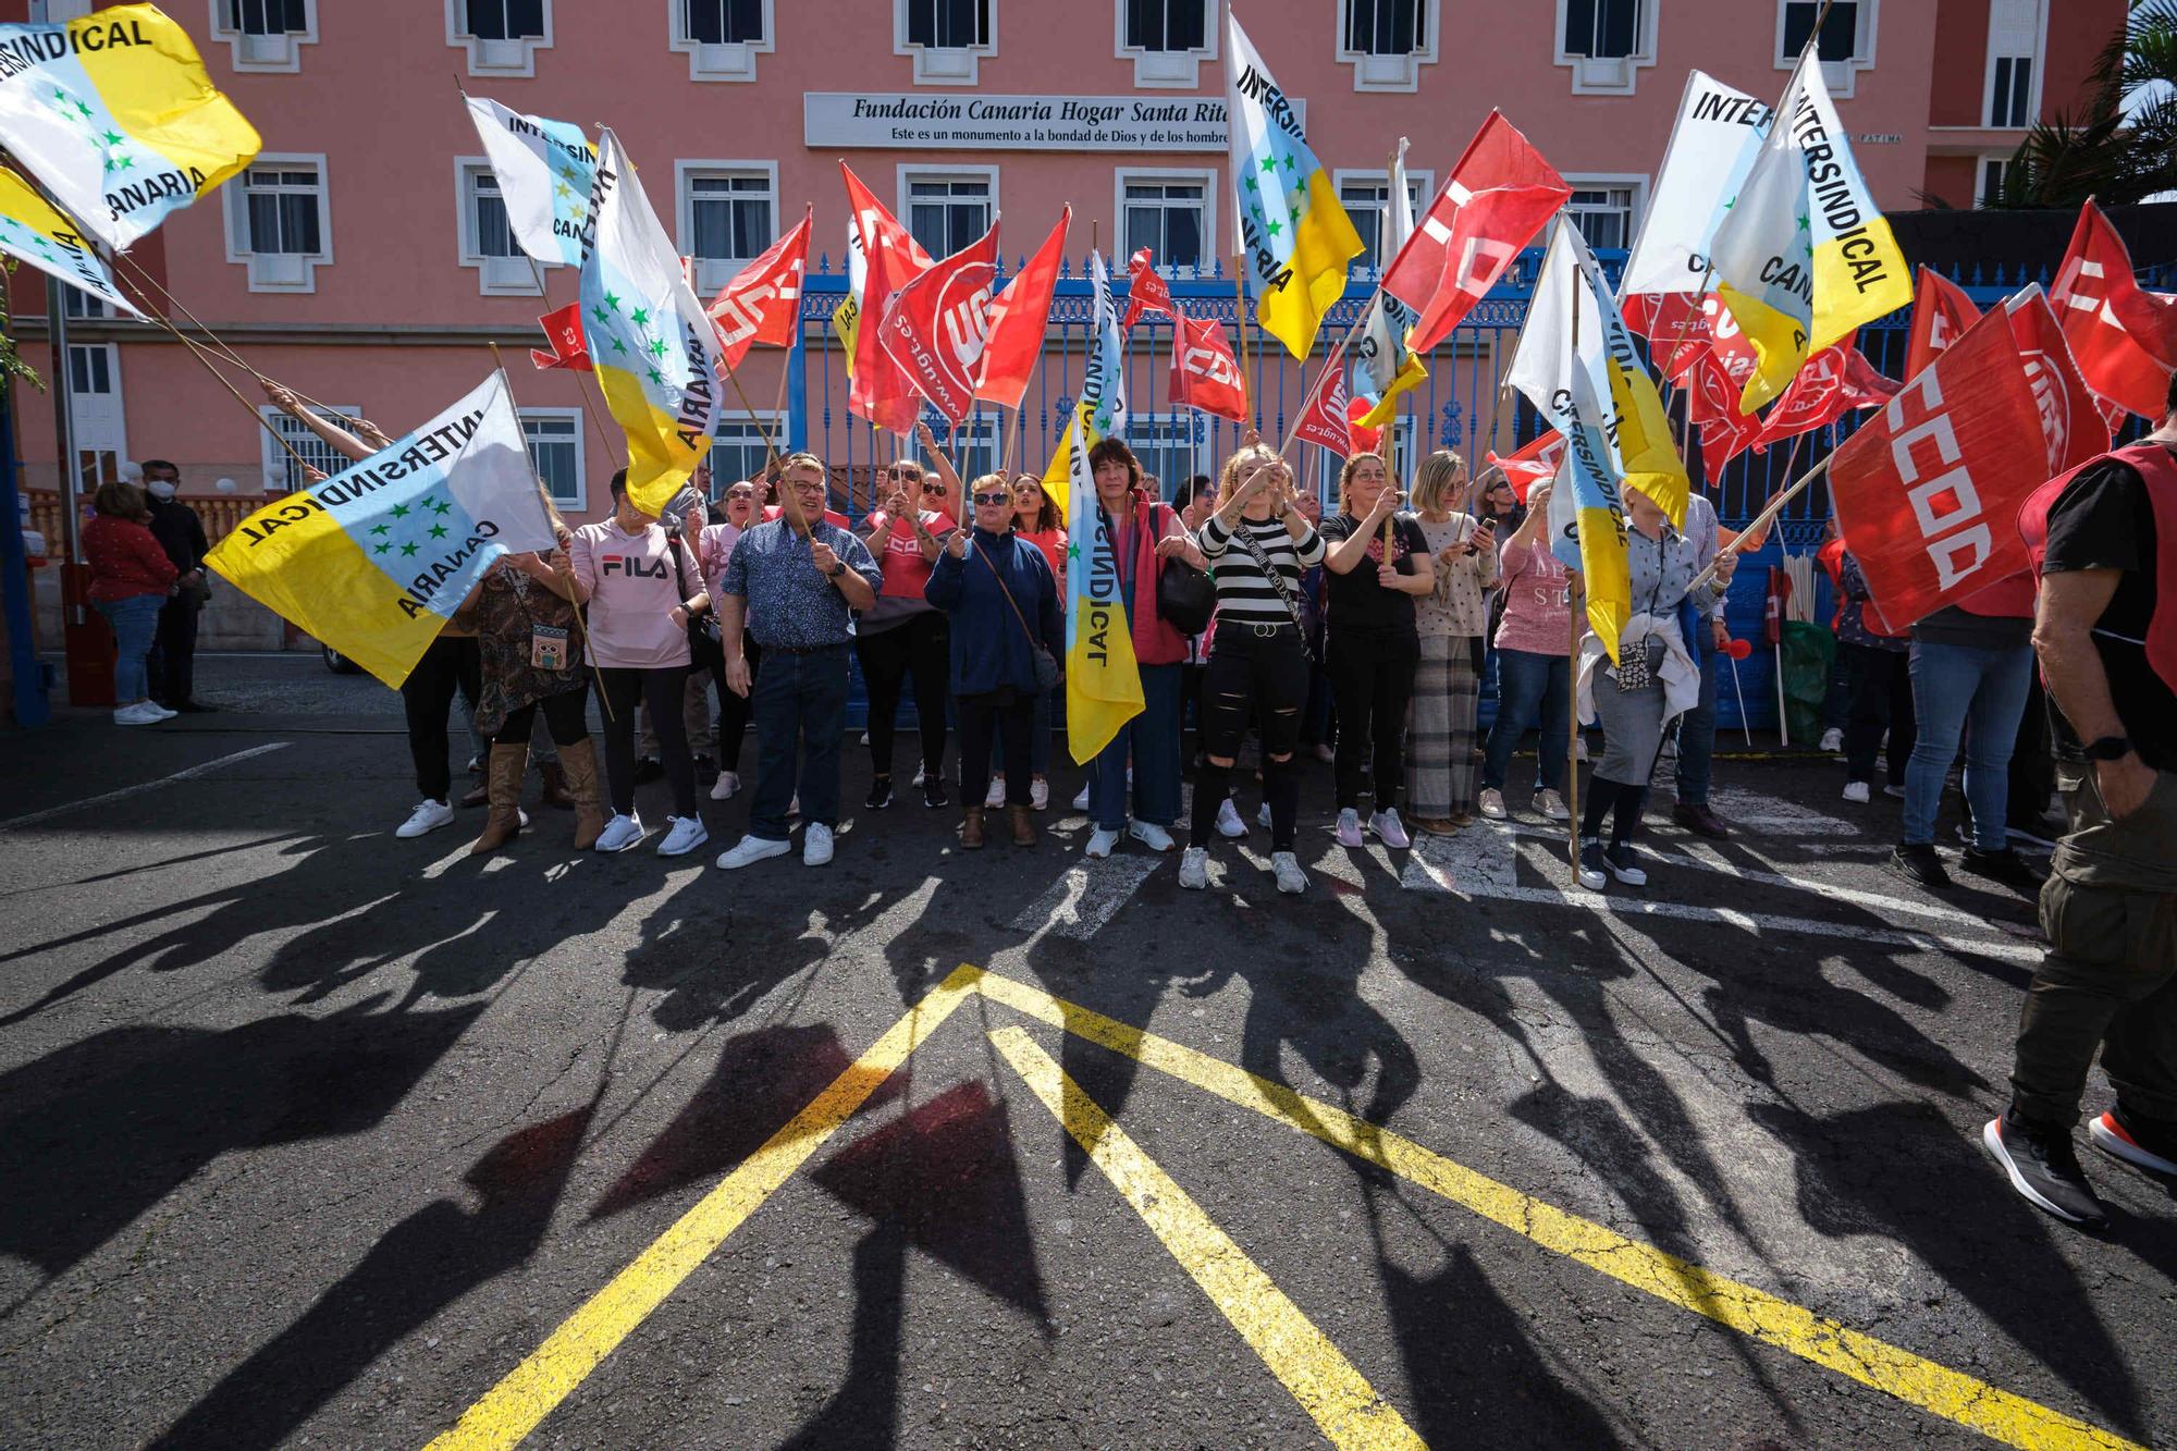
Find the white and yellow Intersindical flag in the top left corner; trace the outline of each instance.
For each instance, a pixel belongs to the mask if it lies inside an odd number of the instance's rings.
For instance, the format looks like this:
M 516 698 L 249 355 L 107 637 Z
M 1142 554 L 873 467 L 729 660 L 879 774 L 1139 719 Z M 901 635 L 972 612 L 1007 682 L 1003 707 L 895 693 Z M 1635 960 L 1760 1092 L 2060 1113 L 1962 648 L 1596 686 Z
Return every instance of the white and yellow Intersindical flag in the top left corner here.
M 157 4 L 0 26 L 0 146 L 74 220 L 128 246 L 261 146 Z

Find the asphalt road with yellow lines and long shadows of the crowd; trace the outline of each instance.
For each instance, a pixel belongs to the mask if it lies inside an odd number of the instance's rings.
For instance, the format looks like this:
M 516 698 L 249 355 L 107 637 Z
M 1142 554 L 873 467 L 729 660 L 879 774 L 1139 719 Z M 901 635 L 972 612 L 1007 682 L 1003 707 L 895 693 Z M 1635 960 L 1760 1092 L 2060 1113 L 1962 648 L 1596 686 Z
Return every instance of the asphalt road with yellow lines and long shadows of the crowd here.
M 200 673 L 0 736 L 9 1447 L 2177 1444 L 2170 1190 L 1979 1148 L 2031 906 L 1831 763 L 1604 900 L 1345 852 L 1326 767 L 1297 900 L 1091 867 L 1073 778 L 1034 852 L 477 863 L 381 686 Z

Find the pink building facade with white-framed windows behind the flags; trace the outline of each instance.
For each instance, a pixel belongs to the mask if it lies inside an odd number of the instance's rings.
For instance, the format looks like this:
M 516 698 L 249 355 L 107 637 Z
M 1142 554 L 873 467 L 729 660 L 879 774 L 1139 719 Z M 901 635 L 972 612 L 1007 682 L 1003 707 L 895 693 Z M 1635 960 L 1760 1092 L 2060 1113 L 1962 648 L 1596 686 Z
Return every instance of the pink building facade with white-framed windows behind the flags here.
M 39 9 L 63 17 L 89 7 Z M 1004 253 L 1014 261 L 1071 203 L 1075 277 L 1093 240 L 1117 255 L 1121 277 L 1126 253 L 1152 242 L 1160 261 L 1176 264 L 1191 307 L 1230 316 L 1230 179 L 1221 122 L 1208 120 L 1221 115 L 1223 68 L 1217 7 L 1206 0 L 170 0 L 168 9 L 261 131 L 263 155 L 139 246 L 142 266 L 257 370 L 390 434 L 475 386 L 499 342 L 540 471 L 573 519 L 605 508 L 620 440 L 610 420 L 599 427 L 590 416 L 592 407 L 603 416 L 601 405 L 577 375 L 527 362 L 527 349 L 542 346 L 538 314 L 575 298 L 575 272 L 540 279 L 507 242 L 457 87 L 592 133 L 610 124 L 705 296 L 808 205 L 812 270 L 819 257 L 838 270 L 845 159 L 934 253 L 973 240 L 1004 211 Z M 1818 9 L 1243 0 L 1239 15 L 1284 89 L 1304 98 L 1315 153 L 1365 237 L 1378 235 L 1387 155 L 1400 135 L 1411 139 L 1411 183 L 1426 203 L 1498 107 L 1574 183 L 1589 240 L 1622 248 L 1639 227 L 1687 70 L 1774 96 Z M 2073 102 L 2092 50 L 2123 20 L 2123 0 L 2066 0 L 2062 17 L 2055 9 L 2055 0 L 1835 2 L 1822 54 L 1885 207 L 1916 207 L 1922 192 L 1964 205 L 1985 159 L 2007 155 L 2033 115 Z M 0 4 L 0 15 L 20 20 L 24 4 Z M 1184 285 L 1193 277 L 1202 285 Z M 1358 277 L 1365 290 L 1367 272 Z M 886 444 L 847 420 L 838 342 L 816 320 L 821 288 L 812 281 L 803 346 L 758 349 L 740 381 L 764 423 L 860 466 Z M 44 368 L 39 277 L 22 270 L 13 301 L 24 351 Z M 1502 427 L 1493 377 L 1515 325 L 1498 318 L 1446 344 L 1432 359 L 1430 401 L 1402 425 L 1406 447 L 1454 442 L 1480 453 L 1489 429 Z M 1317 355 L 1332 340 L 1326 327 Z M 239 368 L 226 377 L 248 405 L 146 325 L 72 316 L 70 342 L 74 431 L 94 466 L 168 458 L 187 495 L 224 492 L 237 508 L 296 481 Z M 1256 401 L 1274 431 L 1297 410 L 1302 373 L 1263 359 L 1258 344 L 1250 336 Z M 1169 331 L 1136 336 L 1132 349 L 1143 447 L 1171 473 L 1213 468 L 1228 440 L 1165 405 Z M 1041 462 L 1049 451 L 1069 375 L 1078 377 L 1078 336 L 1069 342 L 1054 329 L 1017 458 Z M 782 397 L 799 401 L 792 423 L 773 416 Z M 20 392 L 17 418 L 26 481 L 50 490 L 52 407 Z M 984 458 L 1001 425 L 980 420 Z M 760 431 L 738 418 L 718 449 L 721 473 L 749 471 L 762 458 Z

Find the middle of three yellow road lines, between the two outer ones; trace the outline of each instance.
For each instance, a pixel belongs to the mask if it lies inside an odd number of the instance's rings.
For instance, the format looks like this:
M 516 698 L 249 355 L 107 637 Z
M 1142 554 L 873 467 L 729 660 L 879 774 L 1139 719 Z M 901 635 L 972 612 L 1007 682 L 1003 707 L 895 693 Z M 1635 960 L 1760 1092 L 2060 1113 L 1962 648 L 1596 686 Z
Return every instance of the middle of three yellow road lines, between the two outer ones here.
M 1345 1451 L 1422 1447 L 1422 1438 L 1380 1397 L 1330 1338 L 1293 1305 L 1232 1237 L 1217 1229 L 1186 1190 L 1171 1181 L 1104 1109 L 1021 1028 L 999 1028 L 991 1041 L 1043 1100 L 1065 1131 L 1088 1150 L 1134 1214 L 1165 1242 L 1180 1268 L 1223 1312 L 1232 1329 L 1315 1416 L 1330 1444 Z

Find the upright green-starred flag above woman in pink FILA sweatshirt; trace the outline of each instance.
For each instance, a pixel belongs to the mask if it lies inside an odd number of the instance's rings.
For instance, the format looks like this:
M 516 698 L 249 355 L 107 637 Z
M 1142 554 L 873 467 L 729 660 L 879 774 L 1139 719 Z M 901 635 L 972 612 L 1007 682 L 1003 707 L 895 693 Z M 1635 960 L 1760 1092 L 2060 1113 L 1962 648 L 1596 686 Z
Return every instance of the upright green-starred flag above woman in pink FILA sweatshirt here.
M 581 333 L 605 407 L 627 434 L 627 495 L 657 514 L 688 484 L 718 427 L 718 329 L 612 131 L 596 139 L 590 211 Z

